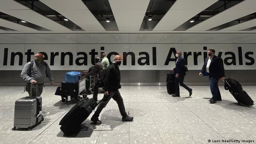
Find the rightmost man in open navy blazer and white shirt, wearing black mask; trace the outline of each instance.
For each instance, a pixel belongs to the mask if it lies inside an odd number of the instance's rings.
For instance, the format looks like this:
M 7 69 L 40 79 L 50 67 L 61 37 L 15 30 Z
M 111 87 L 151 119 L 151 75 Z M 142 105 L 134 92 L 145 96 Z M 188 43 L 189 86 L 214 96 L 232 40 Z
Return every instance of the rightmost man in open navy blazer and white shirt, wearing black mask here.
M 208 49 L 207 53 L 209 57 L 204 60 L 204 65 L 199 73 L 199 76 L 209 76 L 212 94 L 210 103 L 216 103 L 217 101 L 222 101 L 218 81 L 219 79 L 225 79 L 223 60 L 222 58 L 215 56 L 214 49 Z

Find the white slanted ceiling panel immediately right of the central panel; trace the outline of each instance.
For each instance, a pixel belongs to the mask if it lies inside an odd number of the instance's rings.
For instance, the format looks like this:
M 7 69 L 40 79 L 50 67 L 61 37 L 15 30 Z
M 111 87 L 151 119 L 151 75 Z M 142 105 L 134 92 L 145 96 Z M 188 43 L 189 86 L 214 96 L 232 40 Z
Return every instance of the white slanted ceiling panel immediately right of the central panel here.
M 172 31 L 218 0 L 177 0 L 153 31 Z

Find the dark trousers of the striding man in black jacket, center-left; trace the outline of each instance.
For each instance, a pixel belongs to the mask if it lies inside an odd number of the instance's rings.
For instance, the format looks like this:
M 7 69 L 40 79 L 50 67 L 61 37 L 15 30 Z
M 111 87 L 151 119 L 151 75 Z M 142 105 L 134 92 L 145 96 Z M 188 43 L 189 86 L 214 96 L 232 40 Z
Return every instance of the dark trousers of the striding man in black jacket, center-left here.
M 125 107 L 124 107 L 124 100 L 123 100 L 122 96 L 120 95 L 120 92 L 117 90 L 117 91 L 109 91 L 109 95 L 104 95 L 103 96 L 102 102 L 99 103 L 99 106 L 98 106 L 97 110 L 94 113 L 95 118 L 99 117 L 99 114 L 101 113 L 102 109 L 104 107 L 106 107 L 106 105 L 108 104 L 108 102 L 111 98 L 113 98 L 114 101 L 117 102 L 120 114 L 122 116 L 126 115 Z

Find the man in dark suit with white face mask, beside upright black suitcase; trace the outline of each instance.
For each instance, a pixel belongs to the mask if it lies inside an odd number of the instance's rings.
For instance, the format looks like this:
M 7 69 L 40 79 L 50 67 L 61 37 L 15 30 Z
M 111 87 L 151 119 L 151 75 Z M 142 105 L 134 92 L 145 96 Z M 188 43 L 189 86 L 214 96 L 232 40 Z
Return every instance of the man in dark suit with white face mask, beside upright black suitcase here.
M 185 59 L 183 57 L 181 57 L 182 53 L 180 51 L 177 51 L 176 53 L 176 57 L 177 57 L 177 61 L 176 61 L 176 67 L 173 69 L 174 70 L 174 75 L 175 75 L 175 88 L 176 88 L 176 94 L 172 95 L 174 97 L 179 97 L 180 96 L 180 87 L 179 87 L 179 83 L 180 86 L 184 87 L 186 90 L 188 90 L 189 92 L 189 96 L 192 95 L 192 89 L 189 88 L 188 86 L 186 86 L 183 81 L 184 81 L 184 77 L 186 75 L 185 73 Z

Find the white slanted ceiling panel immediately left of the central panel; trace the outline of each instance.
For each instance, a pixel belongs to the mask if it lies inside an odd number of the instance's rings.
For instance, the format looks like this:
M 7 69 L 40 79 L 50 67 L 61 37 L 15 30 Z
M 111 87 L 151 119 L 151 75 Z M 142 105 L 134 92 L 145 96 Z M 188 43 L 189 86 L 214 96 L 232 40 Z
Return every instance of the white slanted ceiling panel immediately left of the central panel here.
M 105 31 L 82 0 L 40 0 L 86 31 Z

